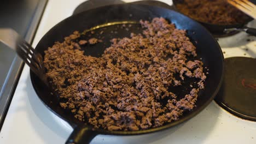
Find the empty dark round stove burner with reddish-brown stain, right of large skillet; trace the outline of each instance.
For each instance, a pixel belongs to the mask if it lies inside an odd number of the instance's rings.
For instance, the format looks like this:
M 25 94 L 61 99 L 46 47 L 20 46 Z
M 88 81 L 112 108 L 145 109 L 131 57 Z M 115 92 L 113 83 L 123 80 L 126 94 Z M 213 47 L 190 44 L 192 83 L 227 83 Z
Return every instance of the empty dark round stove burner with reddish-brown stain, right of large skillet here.
M 226 58 L 224 82 L 215 98 L 226 111 L 251 121 L 256 121 L 255 66 L 255 58 Z

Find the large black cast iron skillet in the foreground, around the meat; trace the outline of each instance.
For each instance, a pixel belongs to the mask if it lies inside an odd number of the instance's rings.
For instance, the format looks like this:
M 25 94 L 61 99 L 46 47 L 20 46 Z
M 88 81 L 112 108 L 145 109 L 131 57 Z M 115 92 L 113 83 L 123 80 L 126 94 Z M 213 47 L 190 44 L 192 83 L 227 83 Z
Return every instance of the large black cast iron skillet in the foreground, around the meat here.
M 169 9 L 149 5 L 120 4 L 84 11 L 83 13 L 68 17 L 51 28 L 50 31 L 39 41 L 35 50 L 44 56 L 44 50 L 48 49 L 49 46 L 52 46 L 55 41 L 63 41 L 63 38 L 73 33 L 73 31 L 83 32 L 85 29 L 90 29 L 91 27 L 102 25 L 104 23 L 139 21 L 141 19 L 148 20 L 149 18 L 160 16 L 174 23 L 179 29 L 187 29 L 189 38 L 197 47 L 197 54 L 199 58 L 201 57 L 205 66 L 210 69 L 210 75 L 208 75 L 205 82 L 206 87 L 200 92 L 195 109 L 184 113 L 178 121 L 148 130 L 108 131 L 103 129 L 93 129 L 90 126 L 79 122 L 71 113 L 63 110 L 59 105 L 58 98 L 52 95 L 51 91 L 43 84 L 43 82 L 41 82 L 32 71 L 30 71 L 32 85 L 39 99 L 43 101 L 49 110 L 54 112 L 74 128 L 73 133 L 69 136 L 66 143 L 89 143 L 98 134 L 137 135 L 171 128 L 173 125 L 180 124 L 194 117 L 213 100 L 223 80 L 224 57 L 222 50 L 220 49 L 217 41 L 203 26 L 196 21 L 191 20 L 189 17 Z M 134 31 L 141 32 L 142 29 L 138 29 L 139 25 L 134 25 L 136 27 Z M 113 28 L 113 26 L 106 27 L 106 32 L 103 33 L 103 36 L 106 37 L 106 39 L 111 37 L 109 36 L 110 32 L 107 33 L 111 28 Z M 120 35 L 114 34 L 114 36 L 121 37 L 123 34 L 124 37 L 129 35 L 129 33 L 130 32 L 126 32 L 125 35 L 125 33 L 120 32 Z M 86 48 L 85 55 L 101 55 L 107 45 L 105 47 L 96 45 L 94 49 Z M 183 91 L 186 91 L 186 89 L 182 89 L 181 87 L 181 89 L 178 90 L 178 93 L 182 93 Z

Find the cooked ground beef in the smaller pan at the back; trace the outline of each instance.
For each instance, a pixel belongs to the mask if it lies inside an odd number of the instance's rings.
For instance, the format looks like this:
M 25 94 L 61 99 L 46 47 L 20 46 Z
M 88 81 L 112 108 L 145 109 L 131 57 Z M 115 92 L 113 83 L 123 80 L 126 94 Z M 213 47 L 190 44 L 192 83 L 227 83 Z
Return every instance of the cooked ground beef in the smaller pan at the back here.
M 197 21 L 217 25 L 243 23 L 250 19 L 226 0 L 184 0 L 176 7 L 181 13 Z

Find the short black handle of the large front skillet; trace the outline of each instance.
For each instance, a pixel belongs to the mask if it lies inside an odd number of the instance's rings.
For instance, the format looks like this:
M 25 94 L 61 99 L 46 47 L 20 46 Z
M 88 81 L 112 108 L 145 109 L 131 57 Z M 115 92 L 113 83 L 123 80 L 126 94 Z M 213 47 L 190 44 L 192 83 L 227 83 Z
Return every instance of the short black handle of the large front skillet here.
M 66 144 L 90 143 L 96 135 L 97 133 L 92 131 L 91 128 L 88 128 L 86 125 L 79 125 L 74 128 L 73 132 L 68 137 Z

